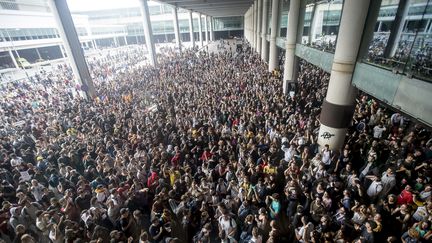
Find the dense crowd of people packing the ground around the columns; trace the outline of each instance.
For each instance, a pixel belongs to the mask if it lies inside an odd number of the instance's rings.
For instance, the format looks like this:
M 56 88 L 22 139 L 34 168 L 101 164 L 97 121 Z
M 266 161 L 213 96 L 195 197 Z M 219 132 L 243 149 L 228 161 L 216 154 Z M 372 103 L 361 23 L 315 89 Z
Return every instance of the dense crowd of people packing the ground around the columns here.
M 231 45 L 226 43 L 226 45 Z M 0 89 L 2 242 L 426 242 L 431 132 L 362 94 L 317 144 L 329 74 L 290 95 L 241 53 L 130 50 Z

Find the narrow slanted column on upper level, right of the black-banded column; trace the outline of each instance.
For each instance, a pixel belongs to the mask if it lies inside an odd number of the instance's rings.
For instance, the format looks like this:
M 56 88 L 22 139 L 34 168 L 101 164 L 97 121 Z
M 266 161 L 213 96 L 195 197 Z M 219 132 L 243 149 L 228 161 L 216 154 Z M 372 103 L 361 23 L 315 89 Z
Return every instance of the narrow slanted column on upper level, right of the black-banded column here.
M 408 16 L 410 0 L 400 0 L 396 17 L 392 23 L 390 36 L 384 49 L 384 57 L 393 57 L 399 45 L 399 40 Z

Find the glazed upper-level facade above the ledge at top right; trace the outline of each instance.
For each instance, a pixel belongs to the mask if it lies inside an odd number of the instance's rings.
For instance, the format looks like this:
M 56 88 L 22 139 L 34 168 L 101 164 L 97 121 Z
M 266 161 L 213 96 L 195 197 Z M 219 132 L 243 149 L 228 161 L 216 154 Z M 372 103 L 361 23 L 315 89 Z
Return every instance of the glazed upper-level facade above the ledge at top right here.
M 369 51 L 363 61 L 432 81 L 432 3 L 418 1 L 407 6 L 407 16 L 393 26 L 399 1 L 381 5 Z M 400 31 L 401 30 L 401 31 Z

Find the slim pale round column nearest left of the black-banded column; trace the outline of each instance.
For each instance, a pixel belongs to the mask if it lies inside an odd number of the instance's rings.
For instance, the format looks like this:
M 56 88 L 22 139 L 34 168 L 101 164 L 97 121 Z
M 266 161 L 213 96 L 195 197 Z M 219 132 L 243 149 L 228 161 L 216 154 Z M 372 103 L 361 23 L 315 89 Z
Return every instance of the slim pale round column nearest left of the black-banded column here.
M 295 46 L 297 42 L 297 29 L 300 14 L 300 0 L 291 0 L 288 12 L 288 25 L 286 37 L 285 66 L 283 76 L 283 92 L 289 92 L 289 83 L 295 82 Z

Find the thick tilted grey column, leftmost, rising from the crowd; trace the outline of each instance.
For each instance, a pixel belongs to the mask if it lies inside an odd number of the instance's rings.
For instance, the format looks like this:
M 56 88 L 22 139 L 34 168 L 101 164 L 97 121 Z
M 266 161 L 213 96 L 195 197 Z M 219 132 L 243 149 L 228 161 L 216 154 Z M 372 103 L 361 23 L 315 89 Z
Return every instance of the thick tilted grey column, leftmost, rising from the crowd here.
M 96 91 L 93 80 L 90 76 L 84 52 L 81 48 L 81 43 L 78 39 L 78 34 L 67 2 L 66 0 L 49 0 L 48 4 L 57 23 L 57 28 L 63 40 L 72 72 L 81 85 L 82 91 L 86 94 L 85 98 L 94 99 L 96 98 Z

